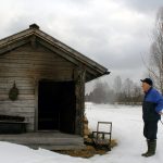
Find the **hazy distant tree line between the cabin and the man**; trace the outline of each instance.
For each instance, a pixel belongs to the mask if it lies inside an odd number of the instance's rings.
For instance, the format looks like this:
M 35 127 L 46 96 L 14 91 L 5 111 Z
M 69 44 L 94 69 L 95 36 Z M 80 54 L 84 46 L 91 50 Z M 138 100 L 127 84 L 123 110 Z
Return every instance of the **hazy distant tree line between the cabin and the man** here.
M 85 100 L 95 103 L 139 104 L 142 96 L 140 86 L 129 78 L 122 82 L 121 77 L 116 76 L 112 87 L 106 82 L 98 80 L 93 90 L 85 96 Z

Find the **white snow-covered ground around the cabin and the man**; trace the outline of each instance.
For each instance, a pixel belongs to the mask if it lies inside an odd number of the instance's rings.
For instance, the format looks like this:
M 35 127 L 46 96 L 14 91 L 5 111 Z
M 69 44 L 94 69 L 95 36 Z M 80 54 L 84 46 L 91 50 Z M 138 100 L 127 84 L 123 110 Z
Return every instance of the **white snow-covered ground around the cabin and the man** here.
M 89 127 L 96 130 L 98 121 L 113 123 L 113 139 L 118 146 L 104 155 L 90 159 L 73 158 L 43 149 L 33 150 L 25 146 L 0 142 L 1 163 L 159 163 L 163 162 L 163 125 L 159 123 L 158 151 L 154 156 L 142 158 L 146 140 L 142 136 L 140 106 L 120 106 L 86 103 Z

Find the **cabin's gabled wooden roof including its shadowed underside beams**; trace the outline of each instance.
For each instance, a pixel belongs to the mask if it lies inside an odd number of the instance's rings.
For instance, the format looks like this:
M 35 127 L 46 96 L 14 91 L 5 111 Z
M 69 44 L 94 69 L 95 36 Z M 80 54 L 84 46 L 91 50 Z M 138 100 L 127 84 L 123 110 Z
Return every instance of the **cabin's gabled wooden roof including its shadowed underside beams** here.
M 110 74 L 106 67 L 40 30 L 37 24 L 32 24 L 29 25 L 29 28 L 1 39 L 0 54 L 24 46 L 29 41 L 39 41 L 42 46 L 46 46 L 52 51 L 57 51 L 57 53 L 76 64 L 76 66 L 83 65 L 82 68 L 86 70 L 86 82 L 92 80 L 105 74 Z

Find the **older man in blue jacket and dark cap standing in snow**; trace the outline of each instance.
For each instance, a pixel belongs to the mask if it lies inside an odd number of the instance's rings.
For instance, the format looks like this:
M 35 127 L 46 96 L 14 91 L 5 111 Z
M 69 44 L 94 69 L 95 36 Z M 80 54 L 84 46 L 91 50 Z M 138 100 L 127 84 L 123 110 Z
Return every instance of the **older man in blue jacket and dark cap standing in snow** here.
M 140 79 L 145 98 L 142 102 L 143 136 L 147 139 L 148 151 L 142 156 L 152 156 L 156 149 L 158 122 L 163 110 L 163 97 L 153 88 L 150 78 Z

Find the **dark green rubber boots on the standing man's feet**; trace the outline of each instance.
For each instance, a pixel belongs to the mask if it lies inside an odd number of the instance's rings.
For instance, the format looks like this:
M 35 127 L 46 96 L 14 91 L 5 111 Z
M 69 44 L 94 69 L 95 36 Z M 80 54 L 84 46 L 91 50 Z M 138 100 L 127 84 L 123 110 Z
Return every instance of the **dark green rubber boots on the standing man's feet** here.
M 148 151 L 142 156 L 152 156 L 155 154 L 156 140 L 148 140 Z

